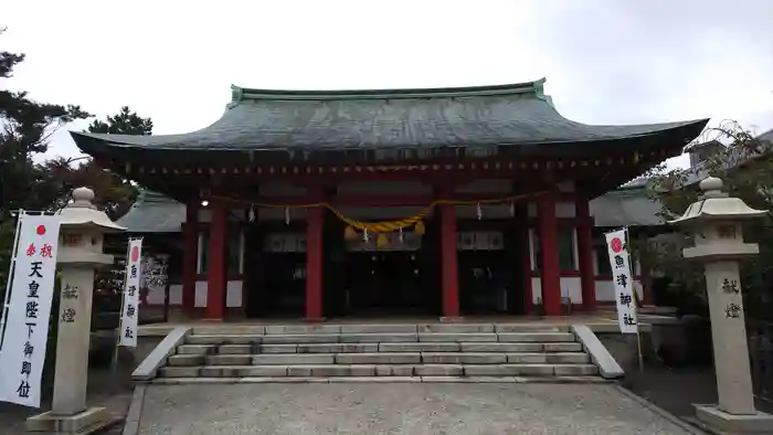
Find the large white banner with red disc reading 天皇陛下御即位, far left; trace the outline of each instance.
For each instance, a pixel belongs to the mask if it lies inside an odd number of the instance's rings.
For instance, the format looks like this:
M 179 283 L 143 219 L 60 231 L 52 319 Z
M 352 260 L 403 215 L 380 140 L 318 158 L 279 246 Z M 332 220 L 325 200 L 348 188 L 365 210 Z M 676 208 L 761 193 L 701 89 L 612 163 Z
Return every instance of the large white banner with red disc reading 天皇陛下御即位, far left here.
M 40 407 L 56 280 L 57 215 L 19 215 L 9 307 L 0 350 L 0 401 Z M 12 278 L 11 278 L 12 277 Z

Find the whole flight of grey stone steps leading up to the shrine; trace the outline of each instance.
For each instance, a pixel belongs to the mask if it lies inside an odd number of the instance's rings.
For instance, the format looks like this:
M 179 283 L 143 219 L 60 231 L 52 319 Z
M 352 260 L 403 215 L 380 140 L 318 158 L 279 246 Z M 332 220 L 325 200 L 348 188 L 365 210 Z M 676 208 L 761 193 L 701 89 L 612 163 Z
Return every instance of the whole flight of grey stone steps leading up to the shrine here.
M 603 381 L 569 326 L 193 327 L 155 382 Z

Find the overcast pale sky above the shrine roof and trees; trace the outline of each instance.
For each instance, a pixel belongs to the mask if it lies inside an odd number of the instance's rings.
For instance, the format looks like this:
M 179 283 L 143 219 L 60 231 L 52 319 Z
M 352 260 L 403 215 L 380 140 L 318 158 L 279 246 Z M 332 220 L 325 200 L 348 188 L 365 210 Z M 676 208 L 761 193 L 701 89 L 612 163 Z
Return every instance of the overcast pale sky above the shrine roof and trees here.
M 543 76 L 559 112 L 586 124 L 711 117 L 773 128 L 772 0 L 6 0 L 0 25 L 0 47 L 28 55 L 0 83 L 99 117 L 128 105 L 152 118 L 153 134 L 213 123 L 230 84 Z M 80 153 L 65 131 L 49 152 Z

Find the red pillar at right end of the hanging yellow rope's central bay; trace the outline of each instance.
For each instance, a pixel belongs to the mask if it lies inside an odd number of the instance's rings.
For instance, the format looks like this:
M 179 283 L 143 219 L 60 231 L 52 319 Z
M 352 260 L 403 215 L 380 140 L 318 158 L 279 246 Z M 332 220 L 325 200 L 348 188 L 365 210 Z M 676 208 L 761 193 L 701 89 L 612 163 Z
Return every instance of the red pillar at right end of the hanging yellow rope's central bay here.
M 440 205 L 441 267 L 443 268 L 443 317 L 459 316 L 458 258 L 456 252 L 456 213 L 453 204 Z

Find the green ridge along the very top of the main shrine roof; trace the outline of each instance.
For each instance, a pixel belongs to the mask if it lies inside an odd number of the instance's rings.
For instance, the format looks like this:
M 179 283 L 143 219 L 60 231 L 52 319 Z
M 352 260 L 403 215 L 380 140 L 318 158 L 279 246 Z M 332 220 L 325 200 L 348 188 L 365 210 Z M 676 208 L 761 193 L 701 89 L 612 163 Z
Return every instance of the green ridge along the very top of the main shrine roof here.
M 331 91 L 290 91 L 290 89 L 258 89 L 231 85 L 233 103 L 254 99 L 395 99 L 395 98 L 448 98 L 469 96 L 493 96 L 512 94 L 533 94 L 543 97 L 546 78 L 532 82 L 511 83 L 501 85 L 459 86 L 459 87 L 426 87 L 426 88 L 391 88 L 391 89 L 331 89 Z

